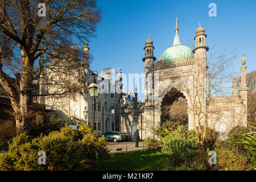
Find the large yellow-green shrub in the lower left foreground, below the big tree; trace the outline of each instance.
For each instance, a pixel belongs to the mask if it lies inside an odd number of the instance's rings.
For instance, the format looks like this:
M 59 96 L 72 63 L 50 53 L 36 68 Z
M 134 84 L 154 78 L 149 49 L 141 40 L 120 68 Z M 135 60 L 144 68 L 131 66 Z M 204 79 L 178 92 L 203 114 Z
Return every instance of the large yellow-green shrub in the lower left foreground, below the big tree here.
M 7 154 L 0 154 L 0 170 L 90 170 L 96 158 L 106 158 L 105 137 L 97 138 L 89 126 L 73 130 L 68 126 L 32 139 L 20 134 Z M 46 152 L 46 165 L 38 164 L 38 152 Z

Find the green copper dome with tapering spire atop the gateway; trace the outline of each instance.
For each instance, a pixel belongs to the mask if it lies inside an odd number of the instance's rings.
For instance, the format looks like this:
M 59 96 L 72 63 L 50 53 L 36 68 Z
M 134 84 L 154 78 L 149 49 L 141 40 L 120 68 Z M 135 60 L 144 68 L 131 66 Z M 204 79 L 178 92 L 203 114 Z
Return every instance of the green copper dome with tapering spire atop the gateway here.
M 177 34 L 174 38 L 174 44 L 164 51 L 162 60 L 172 60 L 179 57 L 192 56 L 193 52 L 188 46 L 184 46 L 180 43 L 179 35 Z

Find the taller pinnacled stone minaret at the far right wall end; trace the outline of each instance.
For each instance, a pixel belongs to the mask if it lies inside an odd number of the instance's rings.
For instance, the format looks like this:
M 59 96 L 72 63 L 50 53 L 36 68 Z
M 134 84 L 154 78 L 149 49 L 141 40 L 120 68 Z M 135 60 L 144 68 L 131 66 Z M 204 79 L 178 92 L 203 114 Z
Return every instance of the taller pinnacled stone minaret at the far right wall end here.
M 246 68 L 247 66 L 245 65 L 246 60 L 245 60 L 245 55 L 243 55 L 242 58 L 242 67 L 241 67 L 241 87 L 239 89 L 240 96 L 241 96 L 241 101 L 243 105 L 243 110 L 241 111 L 241 124 L 242 126 L 247 126 L 247 93 L 248 93 L 248 88 L 246 86 Z

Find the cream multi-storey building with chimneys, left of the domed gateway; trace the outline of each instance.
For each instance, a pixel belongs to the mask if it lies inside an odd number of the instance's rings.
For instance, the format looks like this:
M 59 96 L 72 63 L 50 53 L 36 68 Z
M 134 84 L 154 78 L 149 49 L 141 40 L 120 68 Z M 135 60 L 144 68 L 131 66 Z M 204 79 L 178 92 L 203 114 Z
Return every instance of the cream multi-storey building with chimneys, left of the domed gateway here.
M 84 43 L 84 57 L 85 61 L 89 62 L 89 47 L 88 43 Z M 82 61 L 82 60 L 81 60 Z M 94 118 L 94 129 L 98 133 L 105 133 L 107 131 L 119 131 L 119 98 L 120 94 L 115 92 L 115 87 L 117 87 L 118 81 L 112 79 L 112 69 L 106 68 L 102 69 L 101 74 L 98 75 L 97 71 L 92 71 L 89 68 L 84 68 L 85 72 L 85 82 L 82 84 L 87 85 L 96 78 L 97 84 L 102 88 L 105 86 L 106 92 L 100 92 L 98 97 L 96 97 L 96 102 L 94 105 L 95 118 Z M 121 77 L 121 69 L 117 71 L 117 77 Z M 49 71 L 48 75 L 53 75 L 54 73 Z M 78 74 L 78 73 L 77 73 Z M 76 77 L 76 76 L 75 76 Z M 43 79 L 42 79 L 43 80 Z M 104 86 L 103 86 L 104 85 Z M 48 88 L 45 88 L 45 87 Z M 44 90 L 51 90 L 54 93 L 54 86 L 51 85 L 41 85 L 40 94 L 44 94 Z M 51 110 L 48 113 L 48 118 L 50 115 L 56 115 L 61 120 L 65 120 L 69 117 L 77 117 L 79 119 L 84 119 L 87 124 L 92 126 L 93 118 L 93 99 L 90 97 L 88 90 L 84 93 L 73 93 L 65 94 L 61 96 L 43 96 L 39 99 L 40 104 L 46 105 L 46 109 Z

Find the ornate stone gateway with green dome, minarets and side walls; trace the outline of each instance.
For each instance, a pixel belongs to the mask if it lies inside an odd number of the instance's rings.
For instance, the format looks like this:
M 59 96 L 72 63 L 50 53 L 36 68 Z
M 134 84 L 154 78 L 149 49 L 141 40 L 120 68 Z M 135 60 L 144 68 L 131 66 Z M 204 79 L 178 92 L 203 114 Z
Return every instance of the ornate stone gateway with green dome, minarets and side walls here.
M 200 119 L 207 114 L 208 127 L 228 132 L 236 125 L 247 125 L 247 87 L 245 86 L 245 58 L 242 60 L 242 84 L 240 94 L 236 90 L 232 96 L 207 96 L 207 54 L 204 28 L 199 24 L 196 30 L 196 47 L 191 50 L 180 43 L 179 28 L 175 28 L 174 43 L 164 51 L 162 59 L 156 61 L 154 46 L 148 36 L 144 47 L 144 105 L 125 106 L 121 103 L 121 131 L 131 133 L 131 127 L 141 130 L 142 138 L 155 138 L 154 129 L 161 122 L 161 107 L 170 105 L 178 98 L 187 100 L 188 129 L 201 126 Z M 172 95 L 168 98 L 167 94 Z M 210 102 L 209 102 L 210 98 Z M 221 99 L 220 99 L 221 98 Z M 122 100 L 122 98 L 121 98 Z M 207 104 L 209 107 L 207 107 Z M 208 108 L 208 110 L 206 110 Z

